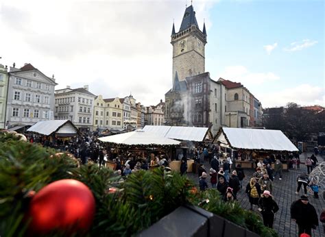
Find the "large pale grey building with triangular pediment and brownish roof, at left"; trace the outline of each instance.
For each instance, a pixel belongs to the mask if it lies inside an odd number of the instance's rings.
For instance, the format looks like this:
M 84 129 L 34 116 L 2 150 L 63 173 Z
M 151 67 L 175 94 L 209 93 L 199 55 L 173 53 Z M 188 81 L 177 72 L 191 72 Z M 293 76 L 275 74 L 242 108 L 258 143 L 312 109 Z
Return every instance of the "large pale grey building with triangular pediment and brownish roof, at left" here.
M 53 77 L 47 77 L 32 64 L 10 67 L 5 119 L 8 127 L 53 119 L 56 85 Z

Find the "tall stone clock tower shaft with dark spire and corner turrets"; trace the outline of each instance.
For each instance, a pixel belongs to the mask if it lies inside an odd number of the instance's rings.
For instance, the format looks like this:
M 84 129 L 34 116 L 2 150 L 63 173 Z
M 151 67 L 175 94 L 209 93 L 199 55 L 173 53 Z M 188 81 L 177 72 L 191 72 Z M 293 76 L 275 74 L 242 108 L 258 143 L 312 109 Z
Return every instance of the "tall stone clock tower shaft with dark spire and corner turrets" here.
M 175 32 L 173 25 L 171 45 L 173 45 L 173 80 L 176 73 L 182 82 L 186 77 L 205 72 L 206 27 L 204 24 L 203 31 L 200 30 L 192 5 L 186 8 L 178 33 Z

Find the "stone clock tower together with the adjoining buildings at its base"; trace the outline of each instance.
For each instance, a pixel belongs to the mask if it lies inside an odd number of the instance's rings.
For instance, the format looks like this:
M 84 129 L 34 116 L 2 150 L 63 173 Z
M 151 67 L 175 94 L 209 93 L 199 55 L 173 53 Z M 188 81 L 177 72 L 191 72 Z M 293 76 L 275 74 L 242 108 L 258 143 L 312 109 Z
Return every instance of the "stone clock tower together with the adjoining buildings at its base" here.
M 190 5 L 180 30 L 176 33 L 173 25 L 171 32 L 173 75 L 172 88 L 165 94 L 165 124 L 210 127 L 213 134 L 223 126 L 254 125 L 257 99 L 250 91 L 228 80 L 213 80 L 205 71 L 206 37 L 206 27 L 200 30 Z

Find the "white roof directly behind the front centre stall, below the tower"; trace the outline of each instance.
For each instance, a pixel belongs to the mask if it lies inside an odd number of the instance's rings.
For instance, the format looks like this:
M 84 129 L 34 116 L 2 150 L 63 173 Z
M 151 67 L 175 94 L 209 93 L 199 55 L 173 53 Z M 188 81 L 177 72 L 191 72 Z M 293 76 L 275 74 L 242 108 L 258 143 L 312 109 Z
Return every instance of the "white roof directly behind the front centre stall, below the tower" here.
M 202 142 L 208 133 L 208 127 L 180 127 L 180 126 L 154 126 L 146 125 L 143 130 L 154 132 L 165 138 L 177 140 L 193 140 Z

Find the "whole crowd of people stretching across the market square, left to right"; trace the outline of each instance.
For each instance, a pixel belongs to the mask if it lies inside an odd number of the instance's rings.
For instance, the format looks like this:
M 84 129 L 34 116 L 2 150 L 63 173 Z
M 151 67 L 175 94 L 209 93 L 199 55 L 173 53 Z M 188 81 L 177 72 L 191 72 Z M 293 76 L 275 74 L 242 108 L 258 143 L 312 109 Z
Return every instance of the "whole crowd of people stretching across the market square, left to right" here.
M 75 158 L 79 158 L 82 164 L 91 161 L 102 166 L 105 165 L 104 158 L 106 158 L 106 160 L 115 163 L 117 175 L 125 177 L 141 169 L 147 170 L 149 166 L 168 166 L 169 162 L 171 162 L 165 153 L 156 154 L 154 157 L 149 155 L 143 157 L 140 153 L 127 150 L 117 152 L 116 149 L 98 142 L 97 137 L 89 133 L 80 134 L 80 136 L 71 140 L 56 140 L 54 144 L 34 135 L 30 135 L 28 140 L 30 142 L 40 142 L 44 146 L 60 149 L 61 151 L 69 151 L 69 153 L 75 155 Z M 186 156 L 195 160 L 195 164 L 199 166 L 197 173 L 200 190 L 204 191 L 209 187 L 216 188 L 225 202 L 237 201 L 237 193 L 243 189 L 243 179 L 245 179 L 245 173 L 240 164 L 234 166 L 234 160 L 229 155 L 225 157 L 217 145 L 210 147 L 196 145 L 191 148 L 189 153 L 179 153 L 177 155 L 176 160 L 181 162 L 181 175 L 186 175 L 188 168 Z M 249 182 L 245 186 L 245 193 L 250 202 L 250 210 L 254 210 L 254 206 L 256 206 L 263 217 L 264 225 L 267 227 L 273 227 L 274 214 L 279 210 L 273 196 L 273 182 L 274 179 L 282 180 L 282 159 L 281 155 L 271 155 L 263 160 L 256 160 L 256 172 L 252 174 L 252 177 L 248 177 Z M 204 166 L 204 162 L 210 164 L 211 168 L 208 171 Z M 306 158 L 307 171 L 302 172 L 297 177 L 298 188 L 296 194 L 298 195 L 303 187 L 304 195 L 292 203 L 291 219 L 296 221 L 298 225 L 299 236 L 302 233 L 311 235 L 311 229 L 318 225 L 317 212 L 313 205 L 309 203 L 309 197 L 307 196 L 307 187 L 309 186 L 313 190 L 314 197 L 318 198 L 318 186 L 315 184 L 315 180 L 309 178 L 309 173 L 313 171 L 317 162 L 315 155 Z M 272 164 L 274 164 L 274 169 L 272 169 Z M 289 169 L 300 169 L 299 155 L 289 154 L 287 164 Z M 208 177 L 210 182 L 207 181 Z M 324 212 L 322 215 L 324 220 Z

